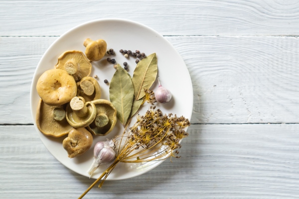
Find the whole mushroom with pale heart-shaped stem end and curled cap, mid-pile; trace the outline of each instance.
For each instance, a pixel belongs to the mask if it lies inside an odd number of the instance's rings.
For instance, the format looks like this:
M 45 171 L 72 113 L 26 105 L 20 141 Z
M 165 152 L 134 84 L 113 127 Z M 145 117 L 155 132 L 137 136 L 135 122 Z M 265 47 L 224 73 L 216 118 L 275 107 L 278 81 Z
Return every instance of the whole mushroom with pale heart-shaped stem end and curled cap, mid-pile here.
M 75 128 L 86 127 L 95 119 L 97 109 L 94 103 L 82 97 L 74 97 L 66 107 L 66 120 Z

